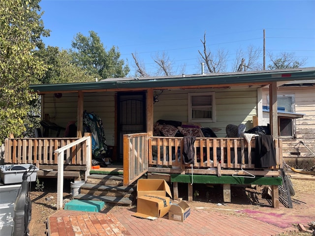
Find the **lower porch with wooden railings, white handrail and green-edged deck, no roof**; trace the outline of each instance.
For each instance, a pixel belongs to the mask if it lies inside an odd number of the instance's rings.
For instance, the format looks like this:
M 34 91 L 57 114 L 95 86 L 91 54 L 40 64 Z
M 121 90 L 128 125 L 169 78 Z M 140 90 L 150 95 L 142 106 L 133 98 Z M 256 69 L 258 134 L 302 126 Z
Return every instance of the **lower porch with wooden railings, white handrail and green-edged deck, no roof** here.
M 183 140 L 149 136 L 148 133 L 124 135 L 124 185 L 149 174 L 148 178 L 171 182 L 174 199 L 182 197 L 178 183 L 187 183 L 188 201 L 192 201 L 193 183 L 222 184 L 224 202 L 231 202 L 231 185 L 270 185 L 272 206 L 279 207 L 280 139 L 274 139 L 277 165 L 268 169 L 254 168 L 254 139 L 248 144 L 244 138 L 196 138 L 194 164 L 188 165 L 181 161 Z M 153 155 L 154 150 L 158 150 L 157 156 Z M 62 208 L 63 178 L 87 180 L 92 167 L 91 153 L 89 134 L 80 139 L 6 139 L 4 161 L 6 164 L 35 164 L 40 169 L 38 176 L 57 177 L 58 208 Z M 203 161 L 199 160 L 199 155 L 204 157 Z

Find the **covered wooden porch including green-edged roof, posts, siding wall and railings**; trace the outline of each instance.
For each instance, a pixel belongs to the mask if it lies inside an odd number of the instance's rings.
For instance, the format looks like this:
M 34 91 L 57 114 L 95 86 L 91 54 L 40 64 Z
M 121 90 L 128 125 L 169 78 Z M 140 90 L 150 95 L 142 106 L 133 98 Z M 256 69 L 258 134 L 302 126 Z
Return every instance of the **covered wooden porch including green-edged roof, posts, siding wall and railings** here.
M 106 135 L 111 140 L 109 145 L 116 147 L 123 156 L 125 186 L 150 173 L 150 177 L 164 178 L 173 183 L 174 198 L 180 198 L 177 183 L 187 183 L 189 201 L 192 201 L 191 183 L 222 184 L 224 201 L 228 202 L 231 198 L 231 184 L 270 185 L 273 191 L 272 205 L 279 207 L 278 185 L 282 181 L 278 170 L 282 168 L 282 140 L 278 136 L 277 83 L 312 76 L 314 71 L 293 69 L 33 85 L 31 88 L 42 96 L 41 117 L 53 114 L 50 118 L 61 127 L 69 120 L 74 120 L 76 137 L 7 139 L 5 164 L 33 163 L 45 170 L 55 168 L 59 192 L 63 189 L 64 171 L 76 169 L 81 174 L 84 173 L 81 179 L 86 179 L 91 169 L 92 140 L 89 136 L 84 136 L 83 114 L 87 109 L 94 109 L 102 114 L 103 122 L 108 127 L 109 135 Z M 270 133 L 276 165 L 261 169 L 254 166 L 254 139 L 247 142 L 242 137 L 226 138 L 224 130 L 232 121 L 235 124 L 246 124 L 247 128 L 260 124 L 261 88 L 265 86 L 269 86 Z M 156 103 L 157 94 L 162 93 L 160 91 L 164 92 L 158 97 L 160 102 Z M 141 123 L 144 132 L 121 132 L 121 110 L 117 99 L 117 94 L 121 92 L 144 94 L 144 100 L 141 101 L 141 111 L 145 114 Z M 161 118 L 189 122 L 188 96 L 189 93 L 197 92 L 199 95 L 200 92 L 218 94 L 213 96 L 216 100 L 212 100 L 212 105 L 220 114 L 214 110 L 213 119 L 209 122 L 202 121 L 202 125 L 219 127 L 222 131 L 216 138 L 196 137 L 193 164 L 186 165 L 183 164 L 184 137 L 154 136 L 154 124 Z M 56 99 L 55 93 L 64 95 Z M 59 207 L 62 207 L 62 201 Z

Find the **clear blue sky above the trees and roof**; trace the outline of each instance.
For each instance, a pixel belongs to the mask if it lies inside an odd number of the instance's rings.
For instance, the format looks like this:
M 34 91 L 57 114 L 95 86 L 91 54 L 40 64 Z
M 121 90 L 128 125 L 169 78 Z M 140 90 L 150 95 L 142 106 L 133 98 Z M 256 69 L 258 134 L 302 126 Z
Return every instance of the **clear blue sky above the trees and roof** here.
M 200 73 L 204 32 L 211 52 L 228 52 L 227 71 L 237 50 L 263 49 L 263 29 L 266 54 L 293 52 L 307 58 L 304 67 L 315 66 L 315 0 L 42 0 L 40 6 L 51 30 L 43 38 L 46 46 L 69 49 L 77 33 L 93 30 L 106 50 L 119 48 L 131 69 L 128 77 L 135 71 L 131 53 L 151 75 L 157 71 L 152 58 L 163 52 L 175 74 L 184 64 L 185 74 Z

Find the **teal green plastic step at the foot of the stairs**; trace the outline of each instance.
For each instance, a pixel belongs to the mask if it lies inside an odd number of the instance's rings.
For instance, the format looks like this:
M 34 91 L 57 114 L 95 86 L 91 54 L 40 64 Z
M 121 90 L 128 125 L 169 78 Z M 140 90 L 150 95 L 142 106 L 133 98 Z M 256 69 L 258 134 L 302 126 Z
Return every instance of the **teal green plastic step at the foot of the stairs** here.
M 99 212 L 105 207 L 102 201 L 74 199 L 64 205 L 65 210 Z

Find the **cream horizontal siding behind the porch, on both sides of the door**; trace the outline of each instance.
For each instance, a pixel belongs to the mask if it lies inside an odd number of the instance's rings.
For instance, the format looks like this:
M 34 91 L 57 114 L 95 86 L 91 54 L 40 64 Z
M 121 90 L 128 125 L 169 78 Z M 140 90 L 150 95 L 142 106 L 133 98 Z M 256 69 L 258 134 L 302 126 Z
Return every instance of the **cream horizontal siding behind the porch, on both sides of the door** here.
M 216 97 L 216 122 L 201 122 L 202 127 L 219 128 L 218 137 L 226 137 L 228 124 L 244 123 L 247 130 L 252 128 L 252 116 L 256 116 L 257 89 L 173 89 L 164 90 L 154 104 L 154 122 L 158 119 L 188 122 L 188 93 L 214 91 Z M 155 94 L 161 91 L 156 90 Z M 115 92 L 85 92 L 84 110 L 95 112 L 103 122 L 107 145 L 115 145 Z M 76 120 L 78 93 L 64 93 L 61 98 L 45 94 L 42 117 L 62 127 Z M 52 131 L 51 135 L 55 134 Z M 63 132 L 60 137 L 63 137 Z

